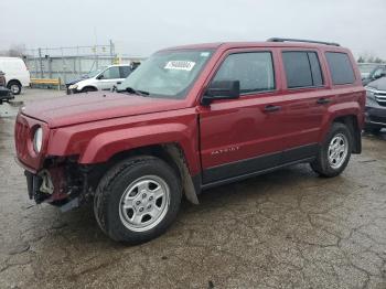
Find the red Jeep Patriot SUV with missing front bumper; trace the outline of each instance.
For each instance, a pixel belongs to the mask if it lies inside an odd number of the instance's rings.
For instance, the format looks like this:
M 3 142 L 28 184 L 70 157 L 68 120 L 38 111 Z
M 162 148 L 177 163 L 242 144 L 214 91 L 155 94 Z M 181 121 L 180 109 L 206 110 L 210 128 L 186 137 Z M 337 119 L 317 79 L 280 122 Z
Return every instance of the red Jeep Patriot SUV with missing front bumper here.
M 29 195 L 66 211 L 94 200 L 112 239 L 162 234 L 184 194 L 294 163 L 340 174 L 361 152 L 365 89 L 335 43 L 270 39 L 150 56 L 117 92 L 23 107 L 18 162 Z

